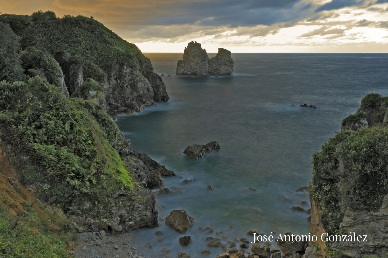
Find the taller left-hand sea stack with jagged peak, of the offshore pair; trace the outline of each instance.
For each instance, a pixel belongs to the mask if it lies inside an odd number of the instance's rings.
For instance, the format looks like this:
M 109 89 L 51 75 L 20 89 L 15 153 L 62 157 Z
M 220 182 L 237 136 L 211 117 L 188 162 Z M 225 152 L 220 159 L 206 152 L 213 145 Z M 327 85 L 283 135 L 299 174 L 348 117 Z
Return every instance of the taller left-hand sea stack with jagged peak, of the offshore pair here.
M 183 60 L 177 63 L 177 75 L 208 77 L 209 56 L 201 44 L 191 41 L 183 52 Z

